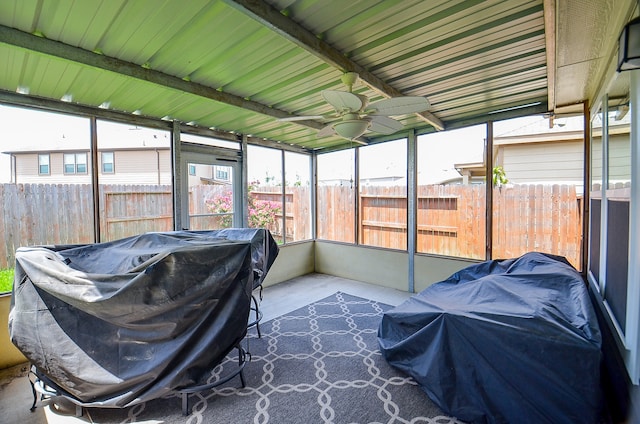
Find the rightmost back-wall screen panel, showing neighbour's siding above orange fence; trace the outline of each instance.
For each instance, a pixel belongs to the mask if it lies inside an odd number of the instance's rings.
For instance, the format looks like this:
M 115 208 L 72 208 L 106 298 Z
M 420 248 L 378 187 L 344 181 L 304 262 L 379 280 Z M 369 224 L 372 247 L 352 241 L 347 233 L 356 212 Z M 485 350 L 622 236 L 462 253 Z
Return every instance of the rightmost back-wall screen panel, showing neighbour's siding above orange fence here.
M 582 269 L 584 117 L 510 119 L 493 133 L 493 258 L 538 251 Z

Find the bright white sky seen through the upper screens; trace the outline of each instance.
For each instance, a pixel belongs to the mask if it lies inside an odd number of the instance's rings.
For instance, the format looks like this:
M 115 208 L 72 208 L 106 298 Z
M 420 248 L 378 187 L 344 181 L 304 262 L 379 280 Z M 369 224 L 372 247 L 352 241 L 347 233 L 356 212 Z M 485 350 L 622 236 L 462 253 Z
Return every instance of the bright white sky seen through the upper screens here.
M 496 135 L 517 131 L 527 125 L 544 124 L 544 118 L 529 117 L 526 119 L 497 123 Z M 56 146 L 59 148 L 87 148 L 89 140 L 89 122 L 86 118 L 64 114 L 35 111 L 19 107 L 0 105 L 0 152 L 26 147 Z M 99 132 L 109 132 L 114 140 L 126 140 L 131 137 L 140 139 L 141 133 L 132 130 L 139 128 L 131 125 L 108 124 L 99 121 Z M 166 143 L 166 131 L 145 129 L 147 141 Z M 484 154 L 484 125 L 463 128 L 453 131 L 437 132 L 418 137 L 418 183 L 428 184 L 444 181 L 458 176 L 455 163 L 481 162 Z M 406 141 L 397 140 L 366 146 L 360 150 L 363 179 L 381 176 L 406 176 Z M 280 151 L 275 149 L 249 146 L 249 179 L 259 180 L 263 184 L 280 183 L 273 164 L 279 163 Z M 252 151 L 254 154 L 252 154 Z M 325 155 L 319 155 L 320 157 Z M 260 158 L 260 160 L 252 160 Z M 309 184 L 309 159 L 306 155 L 287 152 L 285 156 L 287 182 L 299 181 Z M 322 167 L 320 179 L 353 178 L 353 154 L 349 152 L 330 154 L 330 157 L 319 159 Z M 275 172 L 274 172 L 275 171 Z M 276 180 L 270 180 L 276 177 Z M 0 183 L 10 181 L 9 156 L 0 154 Z

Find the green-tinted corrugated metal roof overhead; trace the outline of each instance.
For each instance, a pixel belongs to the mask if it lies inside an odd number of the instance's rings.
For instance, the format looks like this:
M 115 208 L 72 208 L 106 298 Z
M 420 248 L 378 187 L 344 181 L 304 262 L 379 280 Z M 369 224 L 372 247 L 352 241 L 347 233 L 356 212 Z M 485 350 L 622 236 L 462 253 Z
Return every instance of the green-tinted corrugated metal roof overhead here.
M 425 96 L 445 127 L 553 108 L 543 0 L 4 0 L 0 25 L 1 90 L 307 149 L 345 141 L 317 138 L 324 121 L 276 118 L 331 112 L 320 92 L 345 90 L 352 65 Z M 382 99 L 371 86 L 354 92 Z

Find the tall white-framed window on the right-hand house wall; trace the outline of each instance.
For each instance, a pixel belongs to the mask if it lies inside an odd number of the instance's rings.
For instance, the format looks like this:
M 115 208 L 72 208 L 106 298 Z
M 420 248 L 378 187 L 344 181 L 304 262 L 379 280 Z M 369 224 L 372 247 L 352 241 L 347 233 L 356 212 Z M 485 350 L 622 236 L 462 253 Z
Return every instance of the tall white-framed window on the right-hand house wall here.
M 591 232 L 588 279 L 624 358 L 633 384 L 640 378 L 640 252 L 637 201 L 640 78 L 619 72 L 593 110 L 591 123 Z

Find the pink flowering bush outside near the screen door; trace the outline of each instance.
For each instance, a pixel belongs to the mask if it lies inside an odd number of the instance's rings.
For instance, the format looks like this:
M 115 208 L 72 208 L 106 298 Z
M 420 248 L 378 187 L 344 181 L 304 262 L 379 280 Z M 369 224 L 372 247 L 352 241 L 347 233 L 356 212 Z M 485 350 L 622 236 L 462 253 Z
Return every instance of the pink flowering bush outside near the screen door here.
M 282 208 L 277 202 L 257 199 L 253 192 L 257 190 L 259 185 L 260 181 L 252 181 L 248 186 L 249 227 L 274 229 L 276 216 L 281 213 Z M 221 216 L 220 224 L 222 228 L 232 226 L 233 195 L 230 190 L 208 199 L 206 204 L 212 213 L 229 214 Z

